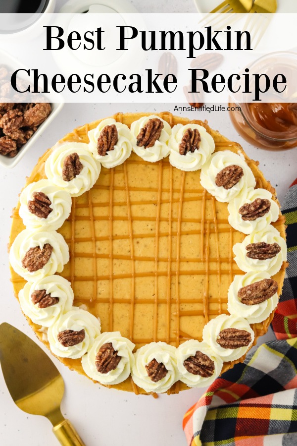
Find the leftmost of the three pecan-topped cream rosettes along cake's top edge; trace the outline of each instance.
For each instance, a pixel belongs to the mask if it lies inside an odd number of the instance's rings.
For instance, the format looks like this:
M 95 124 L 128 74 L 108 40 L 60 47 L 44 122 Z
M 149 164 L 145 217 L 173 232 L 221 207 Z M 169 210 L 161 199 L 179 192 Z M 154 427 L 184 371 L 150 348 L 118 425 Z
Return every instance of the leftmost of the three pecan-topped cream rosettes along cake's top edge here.
M 114 128 L 115 127 L 115 128 Z M 108 130 L 110 134 L 108 135 Z M 114 140 L 109 141 L 111 138 Z M 89 137 L 89 149 L 92 152 L 94 158 L 98 160 L 103 167 L 107 169 L 115 166 L 119 166 L 124 163 L 127 158 L 130 157 L 132 152 L 131 144 L 131 132 L 126 124 L 117 122 L 113 118 L 103 119 L 96 128 L 88 132 Z M 101 138 L 101 145 L 106 144 L 107 151 L 104 155 L 100 155 L 98 148 L 99 138 Z M 108 143 L 113 144 L 108 144 Z M 111 145 L 111 147 L 109 147 Z

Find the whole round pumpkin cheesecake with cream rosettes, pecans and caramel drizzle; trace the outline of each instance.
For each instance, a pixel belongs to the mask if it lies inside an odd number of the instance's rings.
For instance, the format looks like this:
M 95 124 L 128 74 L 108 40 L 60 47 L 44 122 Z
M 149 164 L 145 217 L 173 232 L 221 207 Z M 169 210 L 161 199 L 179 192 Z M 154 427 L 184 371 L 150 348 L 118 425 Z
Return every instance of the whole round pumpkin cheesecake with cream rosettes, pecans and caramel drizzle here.
M 117 113 L 40 158 L 13 211 L 10 263 L 61 362 L 104 386 L 177 393 L 267 332 L 285 223 L 258 163 L 206 121 Z

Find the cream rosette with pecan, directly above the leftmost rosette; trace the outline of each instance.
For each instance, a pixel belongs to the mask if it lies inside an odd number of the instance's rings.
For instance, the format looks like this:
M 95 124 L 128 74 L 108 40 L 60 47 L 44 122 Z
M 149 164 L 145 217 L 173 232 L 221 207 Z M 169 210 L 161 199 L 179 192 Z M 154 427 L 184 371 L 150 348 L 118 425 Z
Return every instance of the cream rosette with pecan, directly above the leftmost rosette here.
M 23 189 L 20 205 L 19 216 L 27 228 L 55 231 L 70 215 L 71 196 L 43 179 Z

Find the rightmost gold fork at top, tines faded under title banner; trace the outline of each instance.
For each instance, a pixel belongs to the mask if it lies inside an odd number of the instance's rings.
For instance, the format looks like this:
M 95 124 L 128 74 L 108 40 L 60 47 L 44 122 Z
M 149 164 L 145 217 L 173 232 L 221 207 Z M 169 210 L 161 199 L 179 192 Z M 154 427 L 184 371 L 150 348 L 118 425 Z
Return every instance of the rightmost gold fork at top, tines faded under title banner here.
M 251 39 L 252 48 L 255 49 L 265 34 L 270 20 L 272 16 L 267 15 L 268 13 L 274 13 L 277 10 L 277 0 L 255 0 L 252 8 L 249 12 L 251 13 L 259 13 L 260 15 L 250 15 L 247 18 L 246 24 L 244 26 L 244 30 L 249 32 L 252 36 L 252 32 L 254 31 L 255 26 L 257 26 L 257 30 L 254 36 Z M 265 14 L 265 15 L 263 15 Z M 260 20 L 259 20 L 260 18 Z

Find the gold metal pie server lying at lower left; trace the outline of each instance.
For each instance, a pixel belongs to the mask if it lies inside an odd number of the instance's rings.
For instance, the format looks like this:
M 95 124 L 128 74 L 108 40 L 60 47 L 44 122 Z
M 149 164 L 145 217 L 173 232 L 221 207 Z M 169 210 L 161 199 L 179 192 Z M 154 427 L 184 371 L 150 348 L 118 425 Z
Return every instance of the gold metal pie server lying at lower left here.
M 43 415 L 63 446 L 85 446 L 61 414 L 64 382 L 48 355 L 30 337 L 6 322 L 0 325 L 0 362 L 6 386 L 24 412 Z

